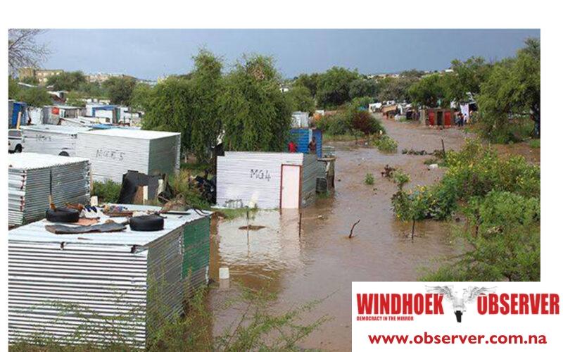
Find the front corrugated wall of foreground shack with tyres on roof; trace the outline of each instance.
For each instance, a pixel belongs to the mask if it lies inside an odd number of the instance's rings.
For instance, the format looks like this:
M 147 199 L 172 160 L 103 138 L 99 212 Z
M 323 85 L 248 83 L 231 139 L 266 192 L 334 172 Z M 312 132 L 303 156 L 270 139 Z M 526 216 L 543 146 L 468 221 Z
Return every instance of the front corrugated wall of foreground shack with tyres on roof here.
M 8 241 L 8 339 L 63 344 L 146 339 L 147 251 Z M 127 316 L 127 319 L 122 319 Z

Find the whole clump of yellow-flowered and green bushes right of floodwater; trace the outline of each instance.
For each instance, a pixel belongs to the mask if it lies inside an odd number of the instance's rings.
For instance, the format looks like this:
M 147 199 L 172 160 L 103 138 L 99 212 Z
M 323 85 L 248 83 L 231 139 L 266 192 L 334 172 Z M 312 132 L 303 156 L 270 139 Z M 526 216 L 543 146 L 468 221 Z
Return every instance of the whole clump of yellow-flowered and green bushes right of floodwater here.
M 539 166 L 521 156 L 500 158 L 477 141 L 448 151 L 445 165 L 448 170 L 437 184 L 399 189 L 392 198 L 401 220 L 445 220 L 456 210 L 467 219 L 455 234 L 469 251 L 423 279 L 540 279 Z

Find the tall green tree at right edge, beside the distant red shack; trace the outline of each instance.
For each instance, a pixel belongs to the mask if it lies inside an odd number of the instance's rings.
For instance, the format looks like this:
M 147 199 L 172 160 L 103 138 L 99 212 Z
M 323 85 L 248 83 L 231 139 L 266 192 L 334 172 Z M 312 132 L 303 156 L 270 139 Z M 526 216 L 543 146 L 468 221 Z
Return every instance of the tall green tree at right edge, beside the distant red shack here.
M 510 125 L 532 118 L 540 136 L 540 42 L 526 40 L 515 58 L 496 63 L 477 96 L 483 137 L 493 142 L 512 139 Z

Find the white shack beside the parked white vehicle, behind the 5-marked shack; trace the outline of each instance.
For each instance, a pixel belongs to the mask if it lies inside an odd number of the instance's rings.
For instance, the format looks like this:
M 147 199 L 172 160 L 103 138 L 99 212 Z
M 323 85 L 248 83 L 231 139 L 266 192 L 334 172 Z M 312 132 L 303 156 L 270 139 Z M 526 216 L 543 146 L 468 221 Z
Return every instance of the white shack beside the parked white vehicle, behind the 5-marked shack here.
M 77 134 L 88 127 L 33 125 L 20 127 L 23 151 L 51 155 L 76 156 Z

